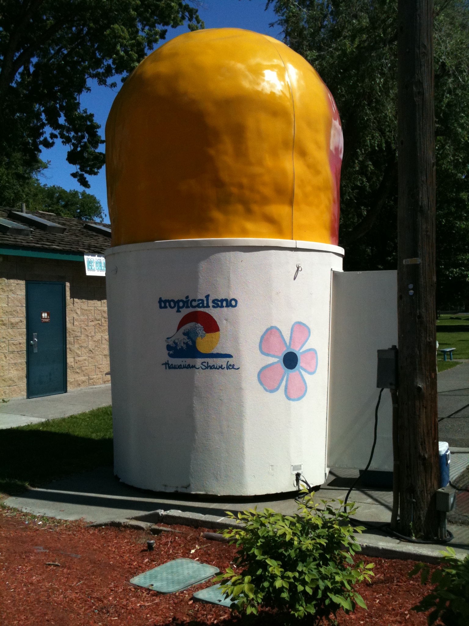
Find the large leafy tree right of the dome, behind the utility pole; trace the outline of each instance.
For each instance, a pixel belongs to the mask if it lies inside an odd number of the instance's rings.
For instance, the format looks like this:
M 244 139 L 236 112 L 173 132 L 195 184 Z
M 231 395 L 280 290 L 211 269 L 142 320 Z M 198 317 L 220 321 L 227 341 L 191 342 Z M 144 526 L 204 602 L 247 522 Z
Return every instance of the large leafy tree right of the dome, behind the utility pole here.
M 397 1 L 268 0 L 285 42 L 336 100 L 345 151 L 345 269 L 395 269 Z M 440 307 L 469 304 L 469 9 L 435 3 L 436 259 Z

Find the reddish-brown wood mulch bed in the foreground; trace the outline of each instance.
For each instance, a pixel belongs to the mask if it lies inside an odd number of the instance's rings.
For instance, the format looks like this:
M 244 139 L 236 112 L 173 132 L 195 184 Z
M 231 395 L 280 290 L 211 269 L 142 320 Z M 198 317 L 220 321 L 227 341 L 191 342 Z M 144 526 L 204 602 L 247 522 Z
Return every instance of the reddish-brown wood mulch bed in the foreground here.
M 28 523 L 27 523 L 28 522 Z M 39 523 L 41 522 L 41 523 Z M 129 584 L 130 578 L 173 558 L 199 558 L 228 567 L 235 547 L 203 540 L 203 528 L 171 526 L 179 533 L 147 535 L 119 528 L 87 528 L 81 521 L 46 520 L 3 509 L 0 512 L 0 623 L 3 626 L 240 624 L 227 608 L 197 602 L 194 589 L 161 595 Z M 155 540 L 154 552 L 146 540 Z M 191 554 L 191 550 L 196 552 Z M 374 562 L 375 578 L 359 592 L 368 605 L 355 614 L 338 614 L 343 624 L 421 625 L 426 618 L 411 611 L 428 587 L 408 579 L 411 561 L 365 558 Z M 46 565 L 59 563 L 59 566 Z M 205 586 L 208 586 L 206 583 Z M 202 585 L 197 589 L 201 589 Z M 281 623 L 270 612 L 258 626 Z M 301 623 L 301 622 L 300 622 Z M 306 622 L 305 623 L 306 626 Z

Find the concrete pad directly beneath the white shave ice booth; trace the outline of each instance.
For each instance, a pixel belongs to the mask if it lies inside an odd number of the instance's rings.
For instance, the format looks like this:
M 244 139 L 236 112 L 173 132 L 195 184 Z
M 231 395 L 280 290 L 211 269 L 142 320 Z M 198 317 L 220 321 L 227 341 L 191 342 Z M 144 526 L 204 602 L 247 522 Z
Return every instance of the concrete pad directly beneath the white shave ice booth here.
M 453 453 L 450 463 L 451 480 L 469 463 L 468 453 Z M 321 486 L 315 501 L 344 500 L 349 486 L 358 473 L 340 470 L 346 476 L 337 476 L 332 470 L 328 481 Z M 99 468 L 83 474 L 53 481 L 43 488 L 26 491 L 20 496 L 6 500 L 8 506 L 19 508 L 35 515 L 46 515 L 62 520 L 79 520 L 105 523 L 110 520 L 146 518 L 154 511 L 179 511 L 196 515 L 212 515 L 216 519 L 226 516 L 226 511 L 237 513 L 257 506 L 271 508 L 283 515 L 296 513 L 295 492 L 283 495 L 253 496 L 252 498 L 210 498 L 178 493 L 154 493 L 121 483 L 114 476 L 113 468 Z M 358 506 L 356 518 L 376 523 L 388 523 L 391 519 L 393 495 L 387 489 L 361 489 L 351 492 L 350 502 Z M 213 520 L 212 520 L 213 521 Z

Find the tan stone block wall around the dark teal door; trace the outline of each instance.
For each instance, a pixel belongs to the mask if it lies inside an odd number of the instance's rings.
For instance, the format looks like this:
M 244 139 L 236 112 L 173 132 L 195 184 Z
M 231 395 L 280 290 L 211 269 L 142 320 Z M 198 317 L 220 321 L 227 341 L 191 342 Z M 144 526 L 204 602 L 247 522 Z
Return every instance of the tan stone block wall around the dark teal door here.
M 111 382 L 104 277 L 84 262 L 0 257 L 0 398 L 26 397 L 26 280 L 66 284 L 67 388 Z

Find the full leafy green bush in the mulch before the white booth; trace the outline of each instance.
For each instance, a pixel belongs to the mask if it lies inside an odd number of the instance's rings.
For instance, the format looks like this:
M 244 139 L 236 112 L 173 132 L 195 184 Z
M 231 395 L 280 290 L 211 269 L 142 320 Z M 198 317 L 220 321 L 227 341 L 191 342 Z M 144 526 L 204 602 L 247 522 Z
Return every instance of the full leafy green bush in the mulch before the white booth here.
M 320 620 L 336 615 L 340 608 L 346 613 L 357 604 L 366 608 L 354 586 L 370 581 L 374 565 L 354 564 L 352 557 L 360 546 L 348 514 L 333 508 L 334 500 L 315 505 L 313 495 L 306 491 L 301 495 L 294 516 L 268 508 L 263 513 L 244 511 L 238 513 L 244 528 L 223 531 L 238 546 L 235 567 L 241 571 L 228 568 L 217 580 L 239 612 L 256 614 L 264 605 L 285 612 L 286 618 L 309 615 Z

